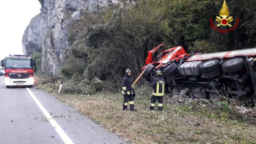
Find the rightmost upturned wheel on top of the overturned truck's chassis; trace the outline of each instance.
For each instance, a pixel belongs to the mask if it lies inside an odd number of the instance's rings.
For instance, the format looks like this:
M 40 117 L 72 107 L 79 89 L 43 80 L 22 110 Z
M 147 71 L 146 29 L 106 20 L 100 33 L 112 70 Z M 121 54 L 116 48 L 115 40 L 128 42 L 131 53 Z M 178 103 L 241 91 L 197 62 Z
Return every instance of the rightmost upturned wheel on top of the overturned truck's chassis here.
M 244 68 L 245 62 L 242 58 L 236 57 L 236 58 L 230 58 L 228 60 L 225 60 L 222 64 L 222 69 L 226 73 L 232 73 L 240 71 L 242 68 Z

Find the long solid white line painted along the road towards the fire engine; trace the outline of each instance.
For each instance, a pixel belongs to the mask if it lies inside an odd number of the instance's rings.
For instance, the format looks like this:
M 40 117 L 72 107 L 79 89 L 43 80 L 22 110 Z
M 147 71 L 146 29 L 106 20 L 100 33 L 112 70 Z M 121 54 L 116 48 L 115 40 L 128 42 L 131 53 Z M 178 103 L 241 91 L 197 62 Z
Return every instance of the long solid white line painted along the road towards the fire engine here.
M 61 129 L 61 127 L 57 124 L 55 120 L 53 120 L 52 116 L 48 113 L 48 111 L 44 108 L 44 106 L 38 101 L 38 99 L 34 96 L 34 94 L 27 88 L 27 91 L 29 91 L 29 94 L 34 99 L 35 103 L 37 103 L 38 107 L 42 110 L 46 118 L 49 120 L 49 122 L 52 124 L 53 128 L 56 130 L 56 132 L 59 134 L 61 139 L 64 141 L 65 144 L 74 144 L 67 134 Z

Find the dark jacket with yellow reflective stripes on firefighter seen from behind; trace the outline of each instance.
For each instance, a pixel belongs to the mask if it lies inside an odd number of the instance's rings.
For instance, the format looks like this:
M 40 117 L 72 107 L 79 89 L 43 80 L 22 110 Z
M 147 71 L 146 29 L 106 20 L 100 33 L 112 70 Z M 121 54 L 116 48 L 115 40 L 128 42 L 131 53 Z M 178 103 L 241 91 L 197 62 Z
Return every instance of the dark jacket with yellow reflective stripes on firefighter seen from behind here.
M 156 77 L 151 83 L 151 87 L 154 88 L 152 95 L 163 96 L 165 93 L 165 79 Z

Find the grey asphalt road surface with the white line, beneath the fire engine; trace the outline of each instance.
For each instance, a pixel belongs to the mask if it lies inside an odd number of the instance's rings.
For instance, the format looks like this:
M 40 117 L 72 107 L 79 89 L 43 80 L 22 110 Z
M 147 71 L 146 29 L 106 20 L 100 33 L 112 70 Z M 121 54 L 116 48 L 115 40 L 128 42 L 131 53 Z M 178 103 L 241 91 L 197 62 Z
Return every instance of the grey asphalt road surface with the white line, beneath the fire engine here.
M 0 144 L 125 144 L 35 87 L 6 88 L 0 76 Z

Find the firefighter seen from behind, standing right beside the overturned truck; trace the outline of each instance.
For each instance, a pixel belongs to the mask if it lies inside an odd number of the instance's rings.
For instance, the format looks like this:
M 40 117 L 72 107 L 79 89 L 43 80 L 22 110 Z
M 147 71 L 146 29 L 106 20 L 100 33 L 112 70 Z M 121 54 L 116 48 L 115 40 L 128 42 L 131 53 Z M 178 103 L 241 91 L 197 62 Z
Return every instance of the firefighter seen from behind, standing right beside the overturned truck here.
M 154 88 L 152 97 L 150 100 L 149 110 L 154 110 L 155 102 L 158 100 L 158 111 L 163 110 L 163 95 L 165 93 L 165 79 L 161 77 L 162 72 L 157 70 L 157 77 L 151 83 L 151 87 Z

